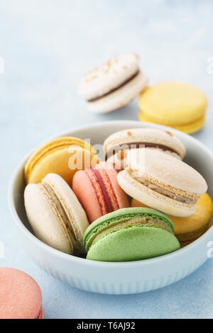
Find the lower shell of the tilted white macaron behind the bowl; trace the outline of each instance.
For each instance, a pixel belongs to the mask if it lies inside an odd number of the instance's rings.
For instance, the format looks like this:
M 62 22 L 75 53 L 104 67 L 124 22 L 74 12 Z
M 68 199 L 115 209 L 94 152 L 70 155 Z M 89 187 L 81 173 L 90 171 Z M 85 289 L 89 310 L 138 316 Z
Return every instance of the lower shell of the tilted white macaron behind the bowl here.
M 146 88 L 148 84 L 148 77 L 143 72 L 139 72 L 136 77 L 131 79 L 128 83 L 116 89 L 110 94 L 97 99 L 96 101 L 89 102 L 88 108 L 93 113 L 108 113 L 119 108 L 123 108 L 126 104 L 130 103 L 133 98 Z

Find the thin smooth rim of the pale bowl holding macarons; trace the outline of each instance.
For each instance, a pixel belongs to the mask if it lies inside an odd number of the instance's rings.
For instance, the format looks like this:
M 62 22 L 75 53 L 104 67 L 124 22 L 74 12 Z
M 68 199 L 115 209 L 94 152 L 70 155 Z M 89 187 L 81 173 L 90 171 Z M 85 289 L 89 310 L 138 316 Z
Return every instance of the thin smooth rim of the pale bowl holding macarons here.
M 75 127 L 75 128 L 72 128 L 71 130 L 67 130 L 65 132 L 60 132 L 60 133 L 58 133 L 58 135 L 54 135 L 53 137 L 50 137 L 49 140 L 53 140 L 56 137 L 70 136 L 70 132 L 77 132 L 79 130 L 89 130 L 89 129 L 92 130 L 92 128 L 97 128 L 102 125 L 107 126 L 107 125 L 111 125 L 112 123 L 114 123 L 115 125 L 116 124 L 117 125 L 122 125 L 122 124 L 129 125 L 129 128 L 133 128 L 133 127 L 131 127 L 133 125 L 136 125 L 136 127 L 138 127 L 138 123 L 140 123 L 141 125 L 145 124 L 146 128 L 150 125 L 152 128 L 170 130 L 171 132 L 178 133 L 180 136 L 187 137 L 187 140 L 190 140 L 191 142 L 195 142 L 196 145 L 200 146 L 200 148 L 203 149 L 204 152 L 209 154 L 209 156 L 212 157 L 212 159 L 213 159 L 213 153 L 211 152 L 211 150 L 209 148 L 207 148 L 204 144 L 202 144 L 202 142 L 195 139 L 195 137 L 192 137 L 190 135 L 187 135 L 185 132 L 180 132 L 179 130 L 175 130 L 174 128 L 170 128 L 165 125 L 160 125 L 160 124 L 155 124 L 155 123 L 143 123 L 143 122 L 138 122 L 138 120 L 108 120 L 108 121 L 92 123 L 89 125 Z M 143 127 L 143 126 L 141 126 L 141 127 Z M 45 142 L 48 142 L 48 140 L 45 140 Z M 45 143 L 45 142 L 43 142 L 43 143 Z M 43 143 L 38 145 L 38 147 L 43 145 Z M 207 239 L 213 231 L 213 225 L 212 225 L 212 227 L 210 227 L 209 230 L 207 230 L 207 232 L 204 233 L 204 235 L 202 235 L 201 237 L 196 239 L 194 242 L 188 244 L 186 247 L 183 247 L 182 249 L 178 249 L 175 252 L 171 252 L 171 253 L 165 254 L 163 256 L 158 256 L 158 257 L 150 258 L 150 259 L 142 259 L 142 260 L 137 260 L 137 261 L 124 261 L 124 262 L 93 261 L 93 260 L 84 259 L 84 258 L 81 258 L 78 256 L 72 256 L 72 254 L 66 254 L 64 252 L 60 252 L 58 249 L 54 249 L 53 247 L 50 247 L 49 245 L 40 241 L 40 239 L 35 237 L 35 235 L 33 235 L 33 233 L 30 232 L 25 225 L 23 225 L 23 222 L 21 221 L 21 218 L 19 218 L 19 216 L 18 216 L 16 207 L 15 207 L 15 204 L 13 201 L 13 193 L 15 191 L 16 177 L 17 177 L 18 173 L 21 171 L 21 169 L 23 169 L 23 165 L 26 163 L 26 160 L 28 159 L 28 157 L 38 147 L 35 147 L 34 149 L 31 150 L 31 152 L 26 154 L 26 156 L 23 157 L 23 159 L 21 159 L 21 162 L 19 162 L 18 166 L 16 166 L 16 168 L 13 170 L 13 173 L 11 175 L 11 180 L 9 181 L 9 186 L 8 186 L 8 205 L 9 205 L 9 210 L 11 212 L 13 220 L 16 223 L 16 226 L 18 227 L 18 229 L 23 233 L 23 235 L 25 235 L 25 237 L 28 237 L 29 241 L 33 242 L 35 244 L 35 246 L 40 247 L 42 250 L 47 251 L 54 256 L 58 256 L 59 258 L 62 258 L 62 259 L 67 259 L 68 261 L 76 261 L 79 264 L 86 264 L 87 266 L 96 266 L 96 267 L 105 266 L 105 267 L 109 268 L 109 267 L 114 267 L 114 266 L 119 266 L 119 267 L 145 266 L 145 265 L 150 265 L 150 264 L 154 264 L 154 263 L 159 263 L 160 261 L 170 260 L 170 259 L 173 259 L 175 256 L 182 256 L 182 254 L 184 255 L 185 252 L 189 252 L 194 247 L 197 247 L 201 242 L 204 242 L 204 240 Z

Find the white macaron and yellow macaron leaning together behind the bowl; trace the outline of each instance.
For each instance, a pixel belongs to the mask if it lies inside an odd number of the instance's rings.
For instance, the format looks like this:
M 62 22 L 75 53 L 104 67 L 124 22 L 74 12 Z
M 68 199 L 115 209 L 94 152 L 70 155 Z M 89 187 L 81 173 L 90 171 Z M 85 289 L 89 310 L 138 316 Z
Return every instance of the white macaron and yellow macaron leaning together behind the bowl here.
M 162 81 L 148 86 L 135 53 L 119 55 L 82 77 L 78 92 L 90 111 L 108 113 L 139 97 L 138 118 L 193 133 L 204 125 L 207 97 L 192 84 Z

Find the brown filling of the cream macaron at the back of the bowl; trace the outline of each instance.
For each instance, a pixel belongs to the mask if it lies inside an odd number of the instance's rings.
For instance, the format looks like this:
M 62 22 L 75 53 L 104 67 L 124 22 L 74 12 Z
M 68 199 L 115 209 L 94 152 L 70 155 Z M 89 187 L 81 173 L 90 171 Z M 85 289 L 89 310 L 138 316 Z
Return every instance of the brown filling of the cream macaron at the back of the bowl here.
M 118 145 L 116 147 L 113 147 L 111 149 L 109 149 L 109 151 L 106 153 L 105 155 L 105 159 L 109 159 L 111 156 L 113 156 L 114 154 L 117 154 L 118 152 L 124 150 L 124 149 L 138 149 L 138 148 L 156 148 L 156 149 L 160 149 L 163 150 L 163 152 L 172 152 L 173 154 L 177 154 L 178 157 L 181 158 L 180 154 L 175 151 L 175 149 L 165 146 L 165 145 L 160 145 L 158 143 L 151 143 L 151 142 L 128 142 L 128 143 L 124 143 L 122 145 Z

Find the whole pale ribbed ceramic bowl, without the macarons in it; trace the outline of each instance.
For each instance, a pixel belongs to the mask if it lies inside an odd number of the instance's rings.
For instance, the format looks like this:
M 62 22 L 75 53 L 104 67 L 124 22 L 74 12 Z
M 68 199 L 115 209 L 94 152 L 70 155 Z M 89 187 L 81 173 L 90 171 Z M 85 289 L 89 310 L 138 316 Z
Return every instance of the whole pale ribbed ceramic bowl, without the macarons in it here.
M 213 154 L 193 137 L 171 128 L 138 121 L 110 121 L 89 125 L 62 133 L 60 136 L 90 138 L 91 143 L 102 144 L 113 132 L 125 128 L 163 128 L 182 140 L 187 149 L 186 162 L 207 180 L 213 197 Z M 26 157 L 27 159 L 28 157 Z M 70 286 L 95 293 L 142 293 L 168 286 L 189 275 L 207 260 L 207 244 L 213 240 L 211 227 L 197 241 L 171 254 L 155 259 L 111 263 L 77 258 L 52 249 L 40 242 L 31 232 L 23 205 L 23 166 L 17 167 L 9 187 L 9 206 L 16 223 L 18 239 L 23 248 L 41 269 Z

